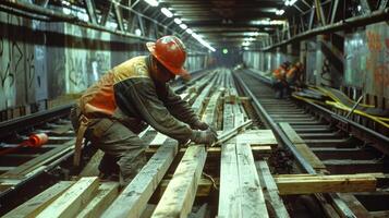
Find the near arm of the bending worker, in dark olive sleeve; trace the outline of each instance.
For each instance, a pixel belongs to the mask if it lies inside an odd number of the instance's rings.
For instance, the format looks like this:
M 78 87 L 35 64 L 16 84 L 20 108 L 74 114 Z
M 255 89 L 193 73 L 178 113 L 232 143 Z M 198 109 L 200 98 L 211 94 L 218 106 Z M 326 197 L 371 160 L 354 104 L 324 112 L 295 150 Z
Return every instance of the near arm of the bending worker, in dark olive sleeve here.
M 138 116 L 158 132 L 180 142 L 191 138 L 189 125 L 170 114 L 150 78 L 131 78 L 114 85 L 117 104 L 129 116 Z

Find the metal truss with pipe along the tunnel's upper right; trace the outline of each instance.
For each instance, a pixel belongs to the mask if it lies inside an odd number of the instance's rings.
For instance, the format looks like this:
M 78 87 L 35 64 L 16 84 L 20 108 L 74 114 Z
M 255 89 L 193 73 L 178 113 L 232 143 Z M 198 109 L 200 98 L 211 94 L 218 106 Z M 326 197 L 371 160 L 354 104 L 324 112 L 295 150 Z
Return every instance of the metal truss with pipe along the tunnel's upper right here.
M 260 50 L 293 44 L 321 34 L 365 26 L 389 20 L 388 0 L 306 0 L 297 1 L 289 25 L 258 44 Z

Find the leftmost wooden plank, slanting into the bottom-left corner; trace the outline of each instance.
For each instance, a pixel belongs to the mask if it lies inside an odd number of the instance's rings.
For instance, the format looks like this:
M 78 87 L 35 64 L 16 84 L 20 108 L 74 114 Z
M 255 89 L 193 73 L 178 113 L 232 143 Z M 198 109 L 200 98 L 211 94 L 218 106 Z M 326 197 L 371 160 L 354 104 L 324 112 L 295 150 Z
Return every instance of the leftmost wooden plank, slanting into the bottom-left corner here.
M 74 184 L 74 182 L 59 182 L 5 214 L 3 218 L 36 217 L 72 184 Z

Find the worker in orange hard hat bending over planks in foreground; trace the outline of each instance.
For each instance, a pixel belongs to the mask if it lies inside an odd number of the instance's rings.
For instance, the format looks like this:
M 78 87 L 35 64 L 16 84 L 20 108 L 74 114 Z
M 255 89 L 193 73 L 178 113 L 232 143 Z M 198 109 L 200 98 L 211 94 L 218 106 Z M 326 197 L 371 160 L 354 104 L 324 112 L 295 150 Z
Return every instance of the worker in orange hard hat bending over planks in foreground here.
M 78 165 L 85 136 L 105 152 L 101 174 L 117 169 L 122 185 L 144 164 L 146 143 L 138 133 L 147 125 L 181 143 L 191 140 L 209 145 L 217 141 L 216 132 L 167 84 L 177 75 L 189 76 L 183 69 L 184 44 L 175 36 L 163 36 L 146 46 L 149 56 L 132 58 L 111 69 L 83 94 L 71 113 L 77 131 L 74 164 Z

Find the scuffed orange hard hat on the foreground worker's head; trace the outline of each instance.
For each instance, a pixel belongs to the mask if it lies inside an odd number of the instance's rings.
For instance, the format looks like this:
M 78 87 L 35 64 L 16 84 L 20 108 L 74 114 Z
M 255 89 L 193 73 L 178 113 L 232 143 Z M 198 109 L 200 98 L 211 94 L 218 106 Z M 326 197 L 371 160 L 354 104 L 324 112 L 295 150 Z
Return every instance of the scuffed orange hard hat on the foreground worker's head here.
M 163 36 L 156 43 L 147 43 L 147 49 L 151 55 L 167 68 L 171 73 L 181 76 L 189 76 L 183 68 L 186 60 L 184 44 L 175 36 Z

